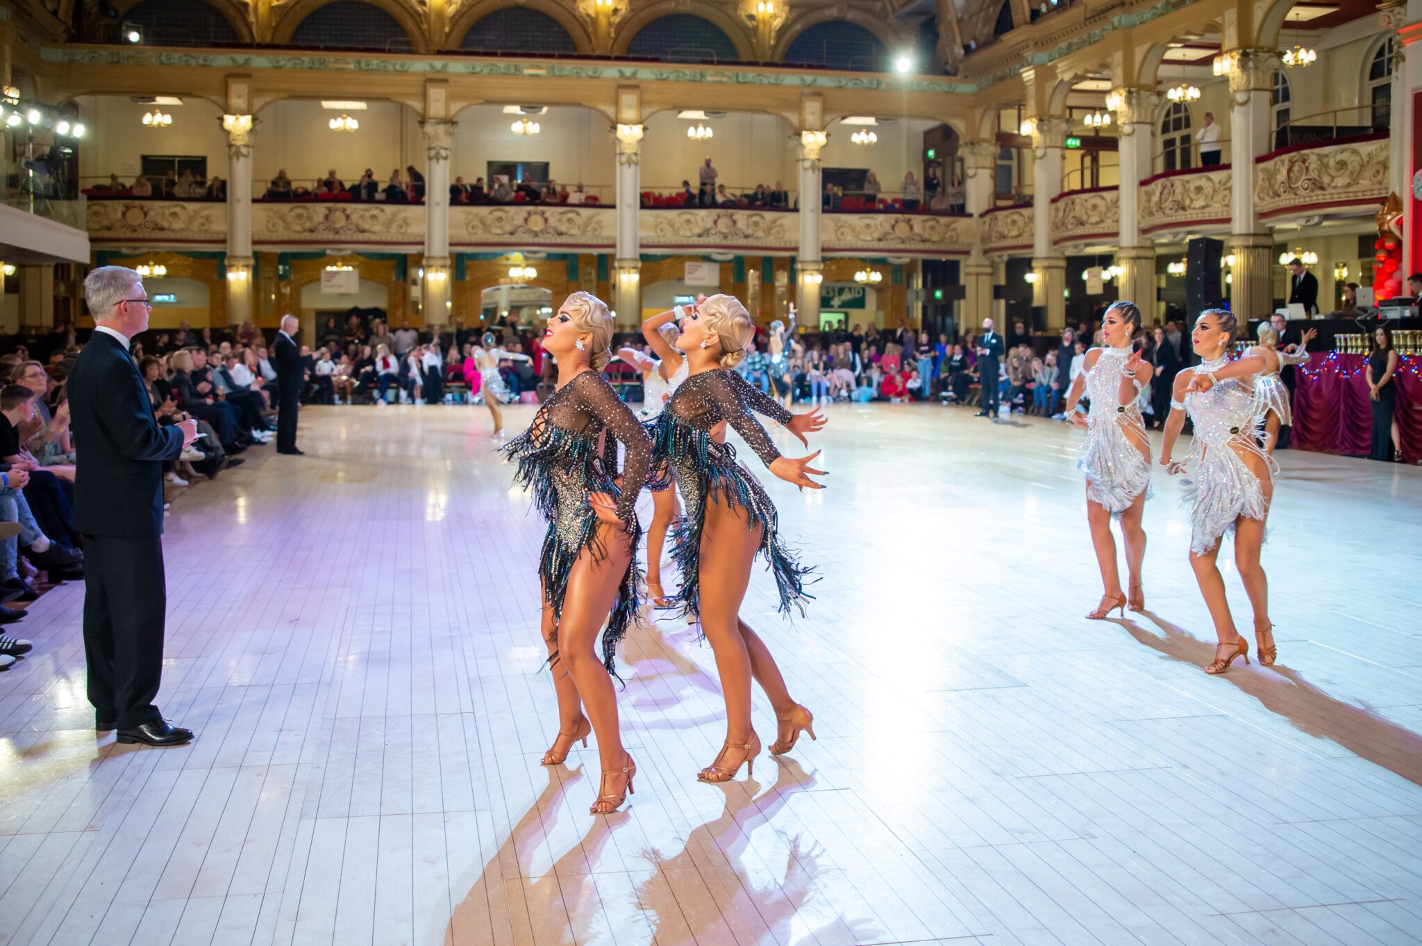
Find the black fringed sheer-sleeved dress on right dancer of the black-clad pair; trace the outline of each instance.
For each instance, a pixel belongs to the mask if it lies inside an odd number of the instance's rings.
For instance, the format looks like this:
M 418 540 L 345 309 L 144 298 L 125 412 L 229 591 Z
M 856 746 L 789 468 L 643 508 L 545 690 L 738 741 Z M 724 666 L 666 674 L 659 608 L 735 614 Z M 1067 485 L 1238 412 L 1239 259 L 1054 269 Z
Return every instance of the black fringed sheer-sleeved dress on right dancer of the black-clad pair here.
M 673 526 L 673 558 L 681 570 L 681 591 L 673 597 L 673 607 L 687 616 L 701 612 L 701 528 L 712 494 L 715 501 L 744 509 L 749 528 L 765 528 L 761 551 L 775 574 L 779 609 L 786 612 L 793 604 L 805 614 L 805 601 L 812 597 L 805 594 L 811 568 L 801 565 L 781 540 L 771 497 L 745 464 L 737 462 L 735 447 L 711 437 L 711 429 L 727 420 L 765 466 L 774 463 L 781 452 L 752 409 L 776 423 L 789 423 L 792 416 L 737 372 L 718 368 L 681 382 L 653 428 L 653 463 L 670 472 L 685 501 L 685 514 Z

